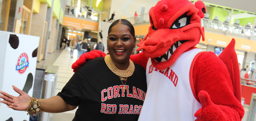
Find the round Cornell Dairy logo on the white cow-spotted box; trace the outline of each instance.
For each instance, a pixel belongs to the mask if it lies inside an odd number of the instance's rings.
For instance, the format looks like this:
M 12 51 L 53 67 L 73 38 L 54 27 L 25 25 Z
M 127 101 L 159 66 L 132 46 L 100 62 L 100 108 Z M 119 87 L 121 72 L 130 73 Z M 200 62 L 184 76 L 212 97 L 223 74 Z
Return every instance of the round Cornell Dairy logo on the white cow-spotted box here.
M 18 59 L 18 63 L 16 65 L 16 70 L 22 74 L 24 73 L 26 70 L 27 70 L 27 67 L 28 67 L 28 57 L 27 57 L 27 53 L 22 53 L 20 56 L 19 56 L 19 59 Z

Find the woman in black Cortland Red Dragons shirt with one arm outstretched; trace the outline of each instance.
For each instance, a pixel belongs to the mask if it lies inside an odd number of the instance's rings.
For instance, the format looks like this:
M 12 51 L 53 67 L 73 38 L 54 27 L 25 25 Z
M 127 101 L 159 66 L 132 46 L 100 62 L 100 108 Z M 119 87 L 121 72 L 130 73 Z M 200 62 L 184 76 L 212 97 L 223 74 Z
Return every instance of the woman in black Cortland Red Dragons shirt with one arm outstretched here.
M 36 99 L 12 86 L 20 96 L 0 91 L 0 98 L 4 99 L 1 103 L 31 115 L 41 111 L 60 113 L 78 107 L 72 121 L 137 121 L 147 83 L 144 68 L 129 59 L 135 44 L 133 25 L 124 19 L 117 20 L 108 31 L 110 55 L 84 64 L 56 96 Z

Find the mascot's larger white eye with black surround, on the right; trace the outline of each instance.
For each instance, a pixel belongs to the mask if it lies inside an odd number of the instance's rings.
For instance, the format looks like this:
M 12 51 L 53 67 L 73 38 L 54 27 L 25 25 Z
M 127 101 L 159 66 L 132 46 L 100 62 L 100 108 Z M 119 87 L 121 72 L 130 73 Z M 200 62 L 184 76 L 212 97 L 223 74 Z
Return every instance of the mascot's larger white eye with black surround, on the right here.
M 175 20 L 174 23 L 172 23 L 170 29 L 179 29 L 190 24 L 190 18 L 191 16 L 187 16 L 187 13 L 183 14 L 177 20 Z

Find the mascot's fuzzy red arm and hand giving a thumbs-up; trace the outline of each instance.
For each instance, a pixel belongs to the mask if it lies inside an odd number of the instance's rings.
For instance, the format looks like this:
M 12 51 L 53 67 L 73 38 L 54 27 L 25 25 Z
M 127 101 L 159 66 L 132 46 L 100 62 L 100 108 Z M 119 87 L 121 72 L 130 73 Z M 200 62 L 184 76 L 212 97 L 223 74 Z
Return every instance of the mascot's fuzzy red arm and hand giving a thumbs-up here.
M 234 95 L 226 65 L 213 52 L 198 56 L 193 68 L 195 93 L 202 108 L 197 110 L 197 121 L 240 121 L 244 108 Z

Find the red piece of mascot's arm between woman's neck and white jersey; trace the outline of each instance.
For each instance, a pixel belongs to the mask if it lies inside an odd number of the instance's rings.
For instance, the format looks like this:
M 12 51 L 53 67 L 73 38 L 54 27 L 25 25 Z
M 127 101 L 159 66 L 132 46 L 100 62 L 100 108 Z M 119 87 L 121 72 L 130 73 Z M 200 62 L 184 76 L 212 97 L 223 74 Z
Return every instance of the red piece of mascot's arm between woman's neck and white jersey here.
M 140 66 L 142 66 L 146 70 L 148 58 L 144 56 L 143 52 L 136 55 L 131 55 L 130 59 L 136 64 L 139 64 Z

